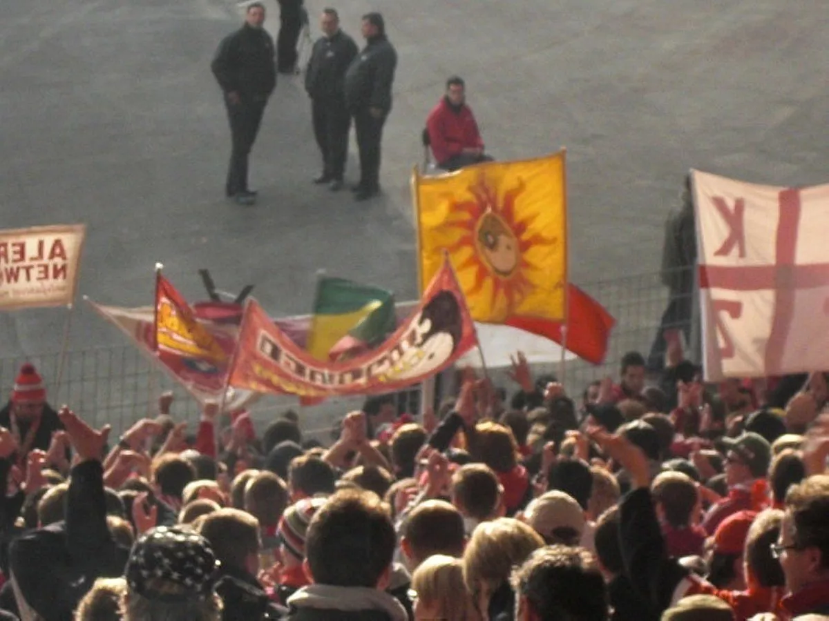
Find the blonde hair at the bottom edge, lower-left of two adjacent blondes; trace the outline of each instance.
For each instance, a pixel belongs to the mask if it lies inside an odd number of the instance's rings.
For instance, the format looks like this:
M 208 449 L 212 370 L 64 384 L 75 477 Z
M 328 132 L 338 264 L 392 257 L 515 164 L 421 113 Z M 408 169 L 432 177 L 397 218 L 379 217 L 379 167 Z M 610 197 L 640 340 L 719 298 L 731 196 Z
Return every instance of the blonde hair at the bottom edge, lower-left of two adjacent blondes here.
M 429 556 L 412 575 L 412 589 L 445 621 L 478 621 L 472 597 L 463 585 L 463 561 L 444 554 Z

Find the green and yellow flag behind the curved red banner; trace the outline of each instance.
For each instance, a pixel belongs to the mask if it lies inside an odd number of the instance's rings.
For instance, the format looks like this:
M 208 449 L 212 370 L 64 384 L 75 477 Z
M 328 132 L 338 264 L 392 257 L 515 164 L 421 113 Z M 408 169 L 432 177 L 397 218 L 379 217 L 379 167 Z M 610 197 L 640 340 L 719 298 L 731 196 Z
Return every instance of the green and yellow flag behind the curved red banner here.
M 308 353 L 318 360 L 340 359 L 381 342 L 395 325 L 395 298 L 390 291 L 345 278 L 322 277 Z

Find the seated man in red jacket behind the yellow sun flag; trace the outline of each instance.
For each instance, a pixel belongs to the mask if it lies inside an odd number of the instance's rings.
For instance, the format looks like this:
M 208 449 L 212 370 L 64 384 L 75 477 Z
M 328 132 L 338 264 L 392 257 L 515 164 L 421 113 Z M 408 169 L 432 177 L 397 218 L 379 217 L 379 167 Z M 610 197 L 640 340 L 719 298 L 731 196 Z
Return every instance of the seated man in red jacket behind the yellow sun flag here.
M 478 123 L 465 99 L 463 79 L 455 75 L 446 80 L 444 98 L 426 119 L 434 159 L 446 171 L 492 160 L 484 155 Z

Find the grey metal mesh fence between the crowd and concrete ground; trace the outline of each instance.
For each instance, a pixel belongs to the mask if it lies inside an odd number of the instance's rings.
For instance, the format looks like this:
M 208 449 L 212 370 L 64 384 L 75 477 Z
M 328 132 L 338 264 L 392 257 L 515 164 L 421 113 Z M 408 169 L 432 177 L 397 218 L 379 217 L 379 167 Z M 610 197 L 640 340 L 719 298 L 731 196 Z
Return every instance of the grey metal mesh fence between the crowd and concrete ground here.
M 605 375 L 616 377 L 618 360 L 625 352 L 638 350 L 647 356 L 668 302 L 667 290 L 657 272 L 587 283 L 582 288 L 610 311 L 616 319 L 616 326 L 604 364 L 567 363 L 562 379 L 572 395 L 594 379 Z M 132 344 L 67 352 L 61 385 L 55 387 L 59 355 L 49 352 L 16 358 L 0 357 L 0 389 L 10 388 L 21 364 L 29 361 L 46 379 L 47 388 L 51 384 L 48 397 L 53 406 L 70 404 L 75 412 L 96 426 L 109 422 L 114 432 L 122 431 L 142 416 L 154 416 L 158 412 L 158 397 L 167 390 L 176 396 L 172 414 L 178 420 L 195 421 L 198 416 L 196 401 Z M 534 368 L 536 373 L 559 374 L 559 370 L 557 364 L 550 364 L 549 368 Z M 503 373 L 497 374 L 496 381 L 508 390 L 514 388 L 508 385 Z M 439 395 L 440 391 L 437 392 Z M 419 412 L 418 388 L 400 393 L 398 399 L 401 412 Z M 303 408 L 303 430 L 308 436 L 328 440 L 333 422 L 360 404 L 359 398 L 332 399 L 321 406 Z M 252 409 L 255 422 L 261 426 L 271 420 L 276 412 L 297 407 L 292 397 L 266 397 Z

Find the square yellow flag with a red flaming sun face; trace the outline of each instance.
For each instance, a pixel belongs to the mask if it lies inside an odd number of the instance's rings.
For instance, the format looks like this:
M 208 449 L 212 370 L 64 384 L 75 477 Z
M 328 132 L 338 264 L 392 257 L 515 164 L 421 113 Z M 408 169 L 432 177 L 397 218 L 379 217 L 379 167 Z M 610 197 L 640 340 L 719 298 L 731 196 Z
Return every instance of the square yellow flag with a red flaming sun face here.
M 566 319 L 565 152 L 412 177 L 420 291 L 448 253 L 473 319 Z

